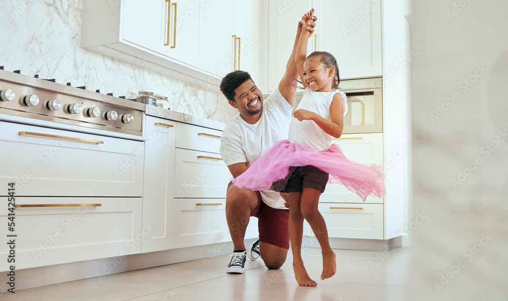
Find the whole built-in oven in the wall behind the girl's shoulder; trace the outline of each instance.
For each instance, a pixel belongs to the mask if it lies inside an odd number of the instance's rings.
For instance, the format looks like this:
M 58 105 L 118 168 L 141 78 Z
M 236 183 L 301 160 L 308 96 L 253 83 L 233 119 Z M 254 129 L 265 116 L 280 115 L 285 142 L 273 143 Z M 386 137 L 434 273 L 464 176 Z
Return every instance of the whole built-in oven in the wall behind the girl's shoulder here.
M 347 113 L 342 133 L 383 132 L 381 78 L 342 80 L 339 90 L 347 96 Z

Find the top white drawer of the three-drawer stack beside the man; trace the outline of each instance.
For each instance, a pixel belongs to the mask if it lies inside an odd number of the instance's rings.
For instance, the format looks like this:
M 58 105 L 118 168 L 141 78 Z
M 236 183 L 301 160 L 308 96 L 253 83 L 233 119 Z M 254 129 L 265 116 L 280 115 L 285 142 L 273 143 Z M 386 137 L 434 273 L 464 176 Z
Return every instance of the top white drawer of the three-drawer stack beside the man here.
M 178 122 L 176 124 L 176 147 L 219 153 L 222 131 Z

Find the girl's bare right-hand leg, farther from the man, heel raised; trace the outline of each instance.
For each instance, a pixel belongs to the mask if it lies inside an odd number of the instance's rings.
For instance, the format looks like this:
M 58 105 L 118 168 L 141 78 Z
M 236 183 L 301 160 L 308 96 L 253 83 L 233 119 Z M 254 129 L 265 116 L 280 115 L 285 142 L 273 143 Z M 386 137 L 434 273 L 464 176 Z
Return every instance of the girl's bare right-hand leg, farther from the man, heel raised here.
M 321 274 L 321 279 L 327 279 L 335 275 L 336 263 L 335 252 L 333 252 L 328 241 L 325 219 L 317 210 L 320 195 L 321 191 L 319 190 L 304 188 L 301 196 L 300 210 L 321 245 L 321 252 L 323 254 L 323 273 Z

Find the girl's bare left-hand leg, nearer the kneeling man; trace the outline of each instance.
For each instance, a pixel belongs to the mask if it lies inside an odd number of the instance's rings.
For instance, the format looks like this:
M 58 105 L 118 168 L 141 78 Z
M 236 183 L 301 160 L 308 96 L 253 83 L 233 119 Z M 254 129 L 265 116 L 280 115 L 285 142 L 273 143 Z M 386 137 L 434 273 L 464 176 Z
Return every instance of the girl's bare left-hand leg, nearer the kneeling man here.
M 317 283 L 310 279 L 303 265 L 302 259 L 302 237 L 303 237 L 303 215 L 300 211 L 301 192 L 289 193 L 289 238 L 291 251 L 293 252 L 293 270 L 295 271 L 296 282 L 300 286 L 316 286 Z

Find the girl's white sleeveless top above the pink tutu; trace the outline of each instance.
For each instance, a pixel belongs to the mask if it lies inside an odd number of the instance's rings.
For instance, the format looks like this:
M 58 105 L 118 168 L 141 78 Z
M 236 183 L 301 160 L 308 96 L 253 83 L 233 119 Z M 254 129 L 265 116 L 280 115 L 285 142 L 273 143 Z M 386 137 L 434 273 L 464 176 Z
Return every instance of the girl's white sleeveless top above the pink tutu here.
M 342 96 L 344 115 L 346 115 L 346 95 L 339 90 L 332 92 L 314 92 L 309 88 L 306 88 L 303 92 L 302 100 L 296 109 L 314 112 L 326 120 L 332 121 L 332 117 L 330 115 L 330 105 L 332 104 L 333 96 L 336 93 L 339 93 L 340 96 Z M 332 146 L 332 136 L 328 135 L 314 121 L 299 121 L 295 117 L 291 118 L 289 125 L 289 141 L 298 146 L 312 147 L 319 151 L 326 150 Z

